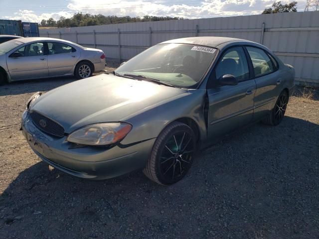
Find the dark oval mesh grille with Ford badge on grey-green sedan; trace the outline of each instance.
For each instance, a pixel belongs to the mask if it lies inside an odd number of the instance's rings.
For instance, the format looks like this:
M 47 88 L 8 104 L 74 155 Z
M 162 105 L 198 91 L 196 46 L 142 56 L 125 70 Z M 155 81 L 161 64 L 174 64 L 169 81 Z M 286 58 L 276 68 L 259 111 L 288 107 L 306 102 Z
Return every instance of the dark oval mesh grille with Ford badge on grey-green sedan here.
M 60 124 L 54 122 L 52 119 L 49 119 L 35 111 L 31 112 L 30 115 L 33 123 L 39 129 L 57 137 L 64 136 L 64 128 Z

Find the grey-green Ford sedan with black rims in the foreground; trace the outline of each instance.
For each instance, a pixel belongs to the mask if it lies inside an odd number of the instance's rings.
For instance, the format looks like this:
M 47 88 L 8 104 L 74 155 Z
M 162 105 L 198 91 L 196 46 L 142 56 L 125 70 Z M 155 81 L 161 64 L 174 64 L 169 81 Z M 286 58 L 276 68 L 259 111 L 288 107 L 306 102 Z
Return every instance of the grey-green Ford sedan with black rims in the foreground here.
M 37 93 L 21 129 L 44 162 L 107 179 L 143 169 L 170 185 L 196 150 L 255 121 L 277 125 L 295 70 L 258 43 L 189 37 L 157 44 L 102 74 Z

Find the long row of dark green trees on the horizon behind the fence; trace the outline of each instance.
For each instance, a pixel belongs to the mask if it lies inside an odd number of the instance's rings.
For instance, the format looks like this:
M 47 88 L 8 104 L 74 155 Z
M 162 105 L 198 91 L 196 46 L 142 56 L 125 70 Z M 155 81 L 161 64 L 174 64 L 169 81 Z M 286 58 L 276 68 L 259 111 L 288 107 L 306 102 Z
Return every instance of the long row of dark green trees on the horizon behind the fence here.
M 40 26 L 50 27 L 75 27 L 75 26 L 95 26 L 95 25 L 106 25 L 116 23 L 127 23 L 127 22 L 143 22 L 143 21 L 164 21 L 164 20 L 179 20 L 182 17 L 170 17 L 170 16 L 149 16 L 144 17 L 131 17 L 131 16 L 105 16 L 102 14 L 92 15 L 83 14 L 82 12 L 75 13 L 70 18 L 61 16 L 59 20 L 54 20 L 52 17 L 45 20 L 42 19 Z

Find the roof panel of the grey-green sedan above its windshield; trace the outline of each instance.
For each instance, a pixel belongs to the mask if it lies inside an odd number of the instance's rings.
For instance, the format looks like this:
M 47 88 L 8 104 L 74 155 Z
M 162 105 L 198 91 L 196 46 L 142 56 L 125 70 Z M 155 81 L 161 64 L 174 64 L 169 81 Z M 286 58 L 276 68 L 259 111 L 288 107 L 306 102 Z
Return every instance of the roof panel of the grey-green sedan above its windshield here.
M 161 42 L 160 44 L 164 43 L 185 43 L 185 44 L 194 44 L 194 45 L 202 45 L 202 46 L 209 46 L 209 47 L 216 47 L 219 48 L 219 45 L 222 45 L 226 42 L 231 43 L 252 43 L 252 41 L 239 39 L 239 38 L 232 38 L 232 37 L 220 37 L 220 36 L 195 36 L 195 37 L 185 37 L 179 39 L 173 39 L 169 41 Z

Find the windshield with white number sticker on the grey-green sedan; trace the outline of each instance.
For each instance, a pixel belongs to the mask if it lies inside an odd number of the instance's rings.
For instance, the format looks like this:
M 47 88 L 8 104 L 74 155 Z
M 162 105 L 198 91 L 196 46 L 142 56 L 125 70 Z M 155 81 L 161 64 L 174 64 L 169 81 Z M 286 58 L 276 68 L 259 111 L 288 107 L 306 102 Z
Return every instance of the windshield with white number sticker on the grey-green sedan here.
M 144 76 L 173 86 L 191 88 L 196 85 L 217 50 L 191 44 L 159 44 L 153 46 L 116 69 L 120 75 Z

